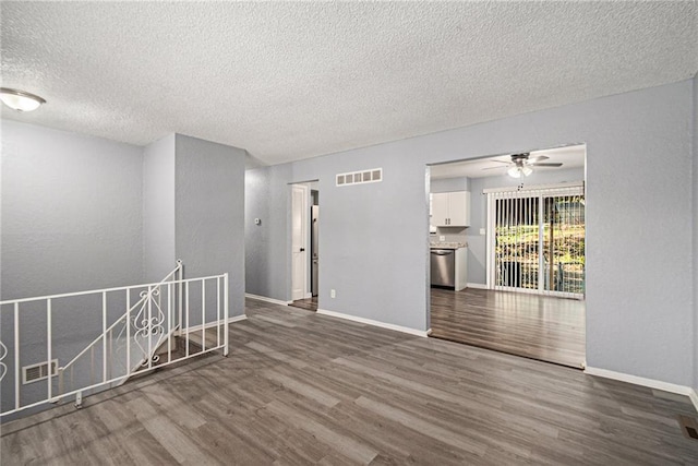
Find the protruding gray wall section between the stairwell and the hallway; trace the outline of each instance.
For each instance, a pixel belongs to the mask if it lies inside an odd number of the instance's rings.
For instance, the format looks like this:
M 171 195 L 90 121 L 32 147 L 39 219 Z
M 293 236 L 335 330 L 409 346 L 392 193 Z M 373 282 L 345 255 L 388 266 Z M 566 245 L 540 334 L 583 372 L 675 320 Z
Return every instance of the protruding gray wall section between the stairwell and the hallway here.
M 246 152 L 177 134 L 176 153 L 176 256 L 185 277 L 228 272 L 230 315 L 242 315 Z

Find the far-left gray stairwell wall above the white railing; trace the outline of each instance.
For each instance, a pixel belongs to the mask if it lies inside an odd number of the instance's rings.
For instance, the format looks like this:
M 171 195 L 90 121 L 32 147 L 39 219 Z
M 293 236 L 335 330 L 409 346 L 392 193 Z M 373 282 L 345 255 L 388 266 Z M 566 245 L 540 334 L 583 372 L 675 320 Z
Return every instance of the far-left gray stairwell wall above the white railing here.
M 2 299 L 142 282 L 141 157 L 2 120 Z

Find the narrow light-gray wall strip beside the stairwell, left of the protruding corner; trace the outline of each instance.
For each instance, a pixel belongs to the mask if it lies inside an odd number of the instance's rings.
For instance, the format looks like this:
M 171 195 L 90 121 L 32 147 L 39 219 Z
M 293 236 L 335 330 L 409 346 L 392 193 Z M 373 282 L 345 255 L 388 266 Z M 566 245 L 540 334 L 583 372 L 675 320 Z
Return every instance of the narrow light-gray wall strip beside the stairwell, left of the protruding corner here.
M 145 282 L 174 268 L 174 134 L 143 150 L 143 251 Z

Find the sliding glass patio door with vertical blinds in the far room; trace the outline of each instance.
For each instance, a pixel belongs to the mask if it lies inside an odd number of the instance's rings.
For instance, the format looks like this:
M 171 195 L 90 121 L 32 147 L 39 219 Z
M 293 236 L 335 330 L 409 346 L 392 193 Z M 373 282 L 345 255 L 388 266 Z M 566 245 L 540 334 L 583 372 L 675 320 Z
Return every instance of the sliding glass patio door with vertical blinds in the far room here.
M 489 288 L 582 298 L 583 186 L 486 194 Z

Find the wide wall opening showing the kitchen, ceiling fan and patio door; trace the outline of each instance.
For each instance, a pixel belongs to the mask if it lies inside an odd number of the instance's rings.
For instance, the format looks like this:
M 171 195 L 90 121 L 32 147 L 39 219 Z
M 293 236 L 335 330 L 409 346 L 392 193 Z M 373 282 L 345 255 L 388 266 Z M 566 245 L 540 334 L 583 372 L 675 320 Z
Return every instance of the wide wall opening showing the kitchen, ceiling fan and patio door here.
M 430 167 L 431 336 L 583 368 L 585 164 L 574 144 Z

